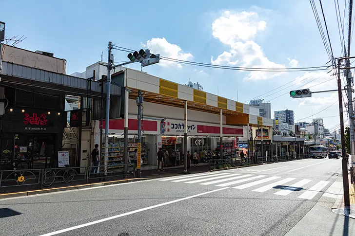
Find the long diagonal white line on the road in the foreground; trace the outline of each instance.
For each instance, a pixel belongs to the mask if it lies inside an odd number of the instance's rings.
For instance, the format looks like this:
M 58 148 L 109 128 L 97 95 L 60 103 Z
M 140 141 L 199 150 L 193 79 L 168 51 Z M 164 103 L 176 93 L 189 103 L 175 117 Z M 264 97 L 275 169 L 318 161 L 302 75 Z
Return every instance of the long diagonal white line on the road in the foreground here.
M 169 205 L 169 204 L 172 204 L 172 203 L 175 203 L 175 202 L 178 202 L 178 201 L 183 201 L 183 200 L 188 200 L 188 199 L 196 198 L 196 197 L 199 197 L 199 196 L 202 196 L 202 195 L 206 195 L 206 194 L 209 194 L 209 193 L 214 193 L 214 192 L 221 191 L 221 190 L 224 190 L 224 189 L 229 189 L 229 187 L 215 189 L 215 190 L 212 190 L 212 191 L 208 191 L 208 192 L 205 192 L 205 193 L 196 194 L 196 195 L 189 196 L 189 197 L 182 198 L 182 199 L 167 201 L 167 202 L 164 202 L 164 203 L 160 203 L 160 204 L 158 204 L 158 205 L 144 207 L 144 208 L 141 208 L 141 209 L 138 209 L 138 210 L 126 212 L 126 213 L 119 214 L 119 215 L 112 216 L 112 217 L 108 217 L 108 218 L 103 218 L 103 219 L 95 220 L 95 221 L 92 221 L 92 222 L 89 222 L 89 223 L 80 224 L 80 225 L 77 225 L 77 226 L 69 227 L 69 228 L 66 228 L 66 229 L 58 230 L 58 231 L 55 231 L 55 232 L 52 232 L 52 233 L 48 233 L 48 234 L 44 234 L 44 235 L 40 235 L 40 236 L 53 236 L 53 235 L 58 235 L 58 234 L 61 234 L 61 233 L 64 233 L 64 232 L 68 232 L 68 231 L 80 229 L 80 228 L 83 228 L 83 227 L 86 227 L 86 226 L 98 224 L 98 223 L 105 222 L 105 221 L 108 221 L 108 220 L 111 220 L 111 219 L 116 219 L 116 218 L 120 218 L 120 217 L 129 216 L 129 215 L 132 215 L 132 214 L 135 214 L 135 213 L 138 213 L 138 212 L 150 210 L 150 209 L 157 208 L 157 207 L 160 207 L 160 206 Z

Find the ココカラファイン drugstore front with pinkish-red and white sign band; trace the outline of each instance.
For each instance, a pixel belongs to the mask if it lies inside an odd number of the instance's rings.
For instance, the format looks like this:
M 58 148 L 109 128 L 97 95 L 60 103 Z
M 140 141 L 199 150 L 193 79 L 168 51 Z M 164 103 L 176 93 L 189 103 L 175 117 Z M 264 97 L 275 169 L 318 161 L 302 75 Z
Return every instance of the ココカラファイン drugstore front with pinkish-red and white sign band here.
M 163 148 L 163 151 L 167 150 L 169 152 L 169 160 L 166 163 L 167 165 L 173 165 L 173 163 L 183 164 L 184 121 L 177 119 L 165 119 L 165 131 L 161 131 L 159 121 L 161 118 L 151 118 L 156 120 L 143 118 L 142 121 L 142 169 L 156 168 L 156 157 L 160 147 Z M 123 119 L 110 120 L 109 145 L 116 147 L 113 149 L 113 154 L 109 153 L 108 161 L 110 163 L 123 163 L 123 125 Z M 130 159 L 133 158 L 133 151 L 138 142 L 137 130 L 137 116 L 129 115 L 128 138 Z M 214 153 L 217 148 L 217 142 L 219 142 L 219 124 L 188 121 L 187 131 L 187 150 L 191 153 L 197 151 L 202 159 L 215 157 Z M 95 143 L 99 143 L 97 142 L 100 140 L 99 135 L 99 122 L 96 122 Z M 243 127 L 223 125 L 223 136 L 223 143 L 236 143 L 236 138 L 243 136 Z M 234 155 L 237 155 L 237 153 L 234 153 Z M 174 156 L 174 160 L 171 158 L 172 156 Z

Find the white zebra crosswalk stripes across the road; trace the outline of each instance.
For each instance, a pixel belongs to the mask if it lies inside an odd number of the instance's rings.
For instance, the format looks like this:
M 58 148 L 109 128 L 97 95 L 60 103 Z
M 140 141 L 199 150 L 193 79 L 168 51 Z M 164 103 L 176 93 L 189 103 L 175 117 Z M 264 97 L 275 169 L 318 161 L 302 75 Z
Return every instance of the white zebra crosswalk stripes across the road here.
M 261 172 L 260 169 L 258 172 Z M 305 200 L 312 200 L 315 198 L 316 195 L 330 183 L 330 181 L 316 182 L 315 180 L 308 179 L 296 180 L 296 178 L 282 178 L 279 176 L 267 176 L 266 174 L 258 175 L 253 172 L 249 173 L 233 173 L 231 171 L 210 172 L 162 178 L 159 179 L 159 181 L 183 182 L 189 184 L 197 183 L 200 185 L 214 185 L 217 187 L 230 187 L 240 190 L 249 188 L 251 191 L 259 193 L 270 191 L 270 194 L 278 196 L 288 196 L 289 194 L 294 193 L 294 197 Z M 253 186 L 255 186 L 254 189 L 252 189 Z M 328 189 L 325 190 L 322 196 L 336 199 L 341 190 L 342 182 L 335 181 L 328 186 Z

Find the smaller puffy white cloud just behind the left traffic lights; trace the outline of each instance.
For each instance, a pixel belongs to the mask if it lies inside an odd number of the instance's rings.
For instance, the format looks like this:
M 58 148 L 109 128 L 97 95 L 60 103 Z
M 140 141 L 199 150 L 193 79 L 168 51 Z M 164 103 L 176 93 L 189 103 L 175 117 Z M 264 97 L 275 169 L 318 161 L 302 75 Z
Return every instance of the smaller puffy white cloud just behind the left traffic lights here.
M 192 54 L 184 53 L 178 45 L 169 43 L 164 37 L 152 38 L 151 40 L 148 40 L 146 44 L 142 44 L 142 46 L 148 47 L 148 49 L 154 54 L 160 54 L 161 56 L 173 59 L 191 60 L 193 58 Z M 175 66 L 182 68 L 180 63 L 167 60 L 160 60 L 159 65 L 162 67 Z

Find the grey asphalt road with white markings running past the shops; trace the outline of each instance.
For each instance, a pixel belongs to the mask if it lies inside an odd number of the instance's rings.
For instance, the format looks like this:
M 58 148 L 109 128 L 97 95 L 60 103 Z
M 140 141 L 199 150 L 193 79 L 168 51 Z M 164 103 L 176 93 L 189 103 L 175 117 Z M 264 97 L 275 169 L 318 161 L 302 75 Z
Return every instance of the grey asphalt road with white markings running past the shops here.
M 355 235 L 355 219 L 331 212 L 342 192 L 340 162 L 306 159 L 0 200 L 0 235 Z M 323 218 L 312 216 L 315 209 Z

